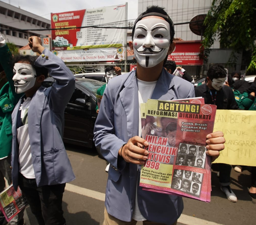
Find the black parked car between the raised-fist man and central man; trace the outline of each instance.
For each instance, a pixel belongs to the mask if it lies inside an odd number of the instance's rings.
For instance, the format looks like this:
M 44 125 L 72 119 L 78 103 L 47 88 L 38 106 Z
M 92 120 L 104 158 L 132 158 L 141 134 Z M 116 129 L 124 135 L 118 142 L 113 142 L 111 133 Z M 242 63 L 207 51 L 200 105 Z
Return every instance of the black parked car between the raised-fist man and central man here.
M 50 87 L 54 82 L 53 78 L 46 78 L 43 86 Z M 97 118 L 96 92 L 103 84 L 98 80 L 76 78 L 75 91 L 65 109 L 64 143 L 95 149 L 93 128 Z

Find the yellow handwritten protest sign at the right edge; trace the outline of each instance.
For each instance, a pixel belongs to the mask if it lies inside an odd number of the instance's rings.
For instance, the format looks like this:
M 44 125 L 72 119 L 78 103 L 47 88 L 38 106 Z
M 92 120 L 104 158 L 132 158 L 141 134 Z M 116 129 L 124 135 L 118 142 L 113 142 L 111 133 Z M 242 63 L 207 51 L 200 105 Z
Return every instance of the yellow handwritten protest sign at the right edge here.
M 225 149 L 214 163 L 256 166 L 256 111 L 217 110 L 214 131 L 223 132 Z

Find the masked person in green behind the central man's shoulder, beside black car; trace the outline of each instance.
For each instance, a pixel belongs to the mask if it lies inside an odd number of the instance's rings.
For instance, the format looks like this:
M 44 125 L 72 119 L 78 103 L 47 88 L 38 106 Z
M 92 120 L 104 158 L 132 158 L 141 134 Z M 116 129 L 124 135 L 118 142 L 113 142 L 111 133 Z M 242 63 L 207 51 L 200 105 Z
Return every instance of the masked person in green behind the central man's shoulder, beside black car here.
M 105 76 L 104 76 L 104 81 L 106 81 L 106 84 L 102 85 L 98 90 L 97 90 L 97 106 L 96 106 L 96 112 L 98 113 L 99 112 L 99 105 L 100 105 L 100 101 L 101 101 L 101 98 L 103 96 L 103 93 L 106 89 L 106 86 L 108 84 L 108 81 L 109 79 L 113 78 L 113 77 L 116 77 L 118 75 L 121 75 L 122 71 L 121 71 L 121 68 L 119 68 L 118 66 L 108 66 L 106 69 L 105 69 Z

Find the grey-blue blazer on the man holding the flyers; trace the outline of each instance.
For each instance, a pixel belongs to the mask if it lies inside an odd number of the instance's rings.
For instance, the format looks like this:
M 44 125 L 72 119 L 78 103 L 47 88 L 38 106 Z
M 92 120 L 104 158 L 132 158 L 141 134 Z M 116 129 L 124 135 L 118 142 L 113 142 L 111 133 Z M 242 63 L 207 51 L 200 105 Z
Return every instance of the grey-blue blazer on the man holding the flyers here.
M 182 78 L 162 70 L 153 99 L 171 100 L 194 97 L 194 86 Z M 108 172 L 105 205 L 108 213 L 123 221 L 131 221 L 135 204 L 136 184 L 140 172 L 137 165 L 118 156 L 119 148 L 139 133 L 139 100 L 135 71 L 108 82 L 94 127 L 95 145 L 111 164 Z M 153 193 L 138 186 L 141 214 L 149 221 L 172 224 L 183 210 L 182 198 Z

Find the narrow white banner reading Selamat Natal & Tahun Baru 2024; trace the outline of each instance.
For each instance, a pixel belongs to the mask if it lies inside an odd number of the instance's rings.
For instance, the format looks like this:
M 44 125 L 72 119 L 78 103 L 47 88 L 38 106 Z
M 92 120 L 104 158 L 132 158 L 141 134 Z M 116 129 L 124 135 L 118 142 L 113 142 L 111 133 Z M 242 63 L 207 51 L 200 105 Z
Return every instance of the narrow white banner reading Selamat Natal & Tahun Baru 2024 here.
M 121 48 L 90 48 L 71 51 L 53 51 L 64 62 L 93 62 L 124 60 L 124 49 Z

